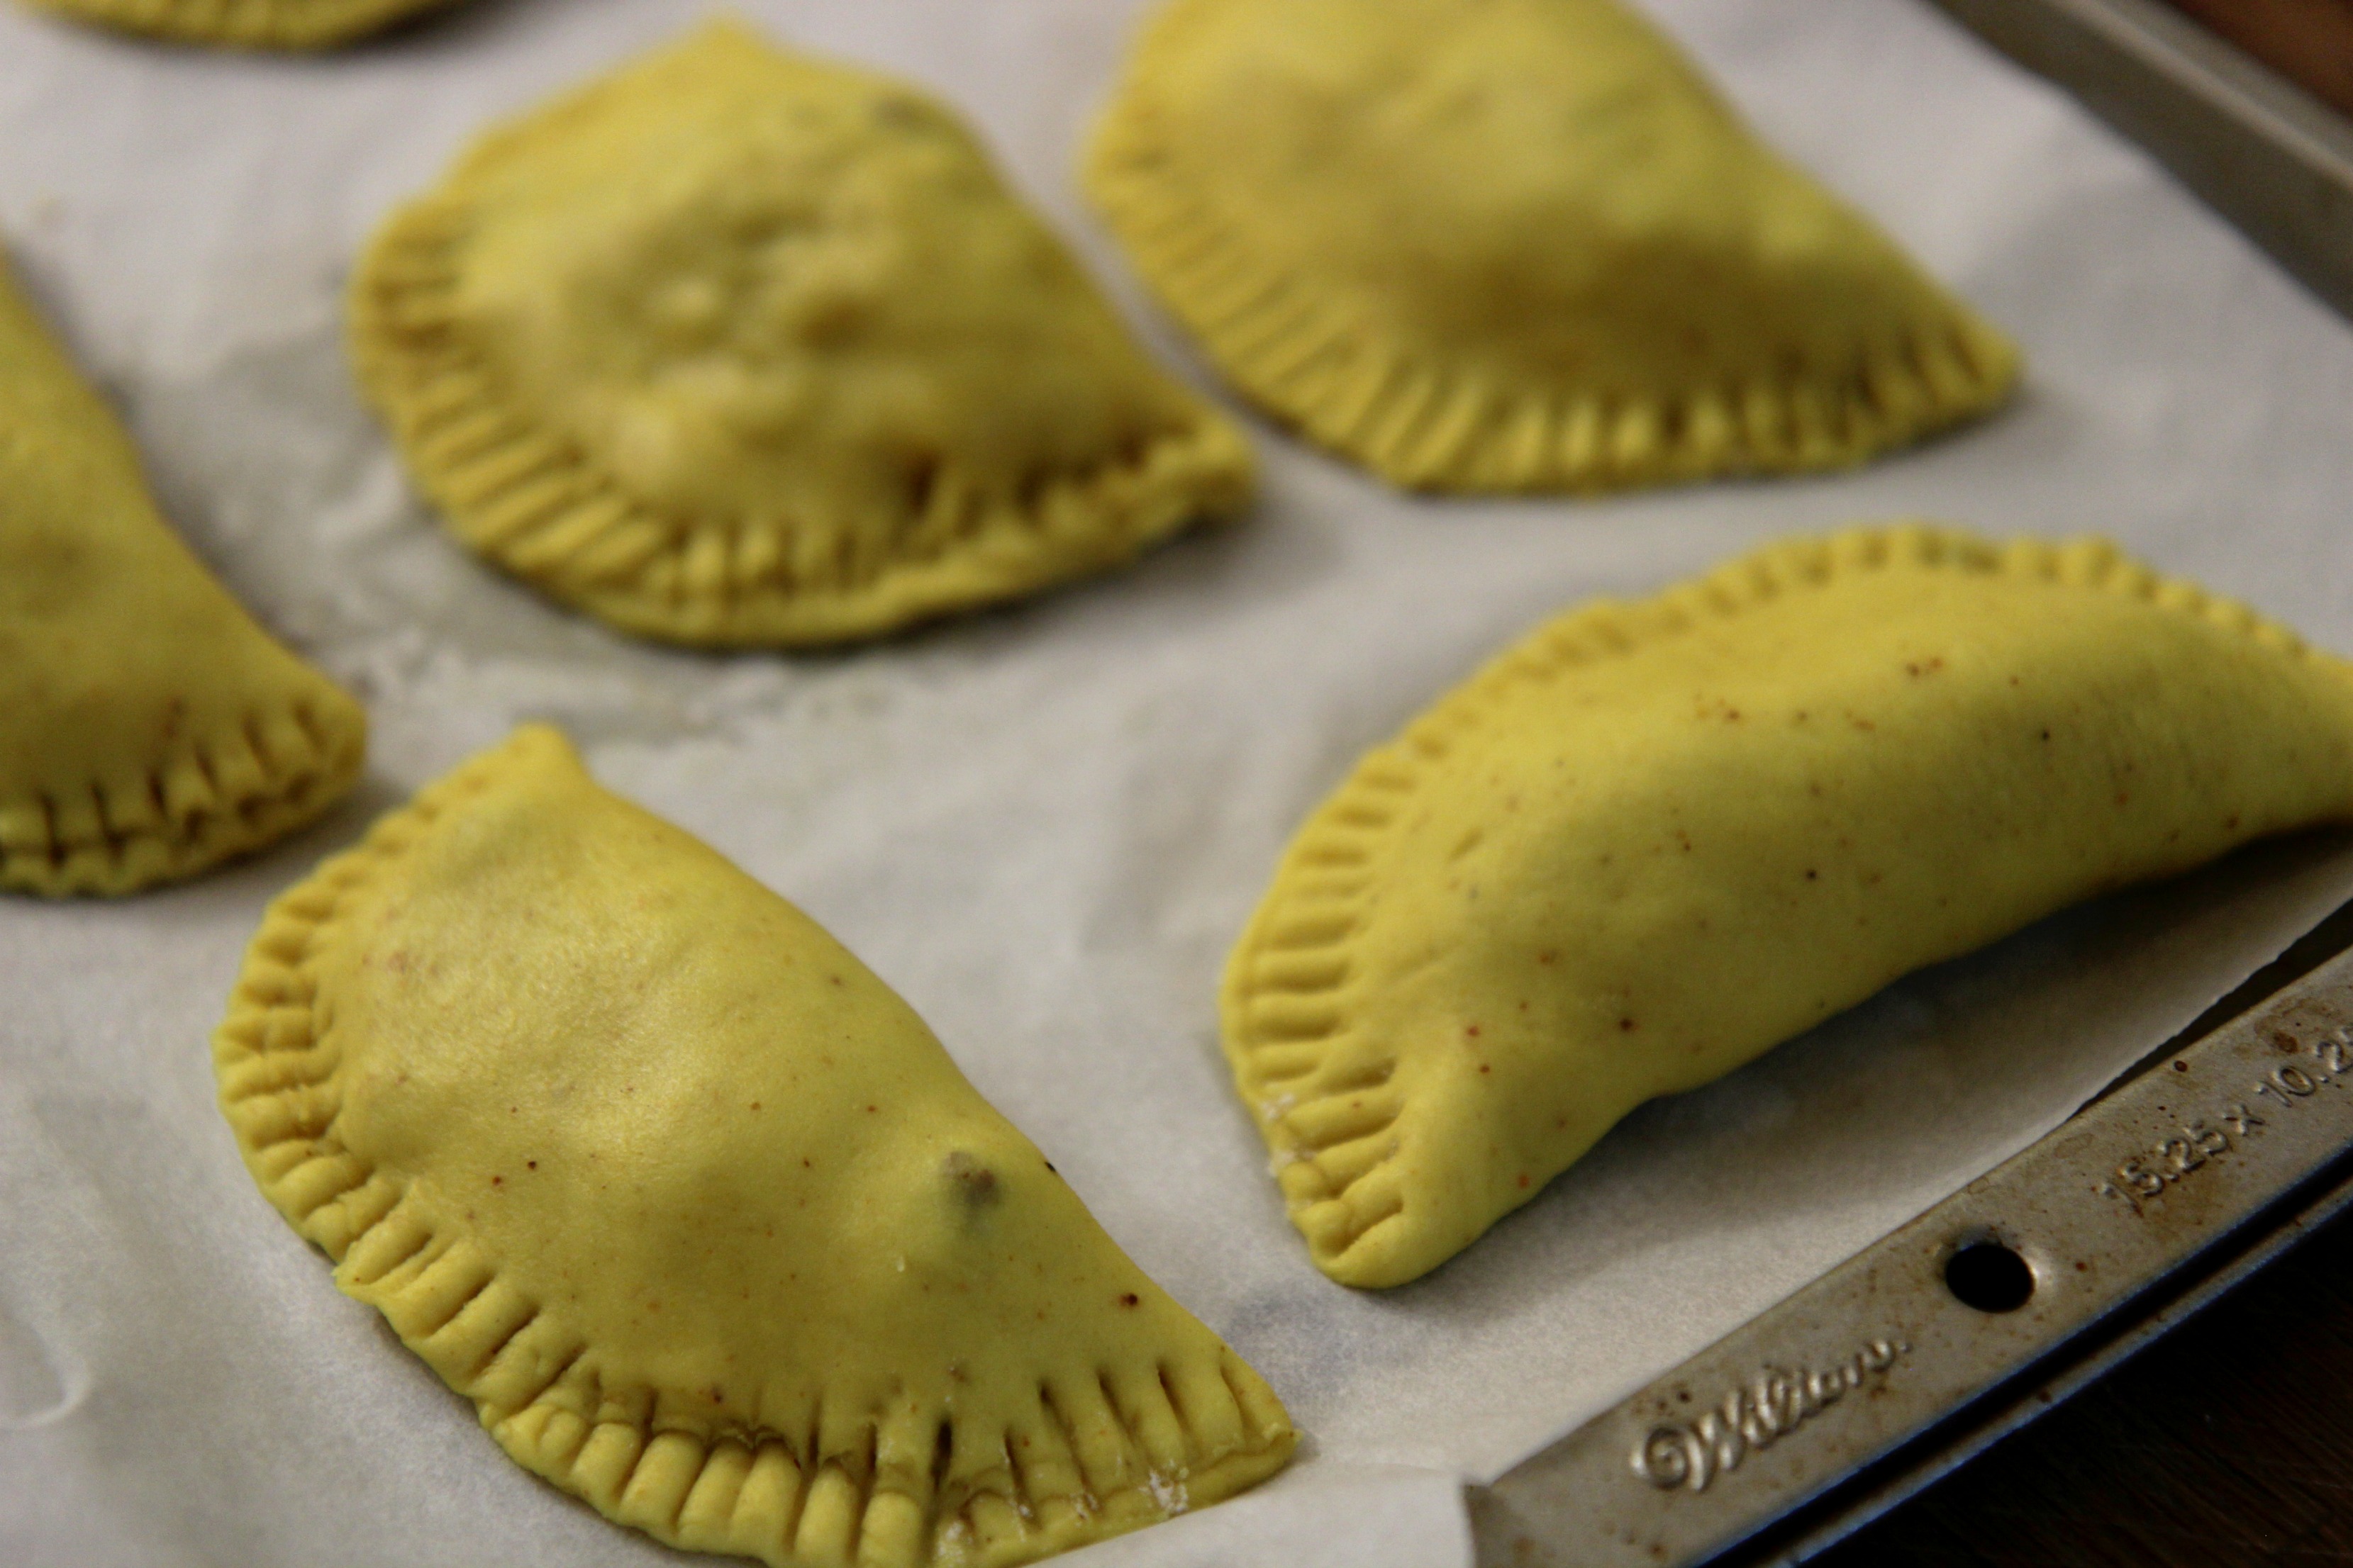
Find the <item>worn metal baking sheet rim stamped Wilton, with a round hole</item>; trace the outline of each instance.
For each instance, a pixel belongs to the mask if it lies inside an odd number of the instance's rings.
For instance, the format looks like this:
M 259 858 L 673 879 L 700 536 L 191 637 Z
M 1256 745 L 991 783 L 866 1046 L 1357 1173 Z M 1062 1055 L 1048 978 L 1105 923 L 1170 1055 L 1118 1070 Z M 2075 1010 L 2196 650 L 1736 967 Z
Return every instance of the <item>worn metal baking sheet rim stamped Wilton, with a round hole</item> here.
M 2353 952 L 2339 952 L 1473 1488 L 1478 1561 L 1802 1561 L 2348 1204 Z

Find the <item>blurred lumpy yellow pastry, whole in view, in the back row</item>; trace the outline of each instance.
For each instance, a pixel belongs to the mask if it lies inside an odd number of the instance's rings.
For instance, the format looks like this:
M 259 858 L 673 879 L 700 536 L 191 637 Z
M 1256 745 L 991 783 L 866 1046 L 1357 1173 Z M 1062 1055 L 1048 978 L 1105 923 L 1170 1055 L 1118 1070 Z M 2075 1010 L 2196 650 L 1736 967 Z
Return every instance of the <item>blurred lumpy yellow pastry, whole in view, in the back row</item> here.
M 885 632 L 1254 482 L 948 110 L 729 21 L 485 136 L 351 306 L 449 527 L 649 637 Z

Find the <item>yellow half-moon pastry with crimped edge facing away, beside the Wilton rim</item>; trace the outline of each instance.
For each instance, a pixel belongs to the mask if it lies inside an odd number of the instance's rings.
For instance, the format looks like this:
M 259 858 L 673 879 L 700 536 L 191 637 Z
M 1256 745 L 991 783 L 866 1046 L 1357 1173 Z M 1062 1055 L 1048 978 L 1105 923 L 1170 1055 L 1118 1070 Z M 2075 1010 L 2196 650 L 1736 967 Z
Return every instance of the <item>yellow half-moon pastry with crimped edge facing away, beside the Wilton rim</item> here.
M 1339 1281 L 1889 980 L 2353 816 L 2353 665 L 2099 541 L 1927 527 L 1539 628 L 1301 827 L 1226 1053 Z

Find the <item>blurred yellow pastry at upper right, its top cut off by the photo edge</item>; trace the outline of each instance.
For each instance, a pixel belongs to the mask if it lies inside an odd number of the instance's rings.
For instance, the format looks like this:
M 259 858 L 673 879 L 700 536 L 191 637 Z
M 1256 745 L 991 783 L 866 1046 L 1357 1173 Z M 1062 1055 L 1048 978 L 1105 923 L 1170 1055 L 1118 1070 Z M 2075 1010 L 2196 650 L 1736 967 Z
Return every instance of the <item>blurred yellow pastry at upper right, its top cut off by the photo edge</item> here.
M 1085 179 L 1242 393 L 1395 484 L 1840 468 L 2017 378 L 1612 0 L 1172 0 Z

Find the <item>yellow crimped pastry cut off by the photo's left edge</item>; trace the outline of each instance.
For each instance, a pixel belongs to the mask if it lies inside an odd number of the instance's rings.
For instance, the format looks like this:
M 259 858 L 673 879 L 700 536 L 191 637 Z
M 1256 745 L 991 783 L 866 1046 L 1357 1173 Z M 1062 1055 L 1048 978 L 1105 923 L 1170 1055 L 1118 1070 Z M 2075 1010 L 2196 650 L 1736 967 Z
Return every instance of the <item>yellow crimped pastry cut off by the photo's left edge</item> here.
M 0 256 L 0 889 L 132 893 L 325 811 L 367 717 L 155 512 Z

